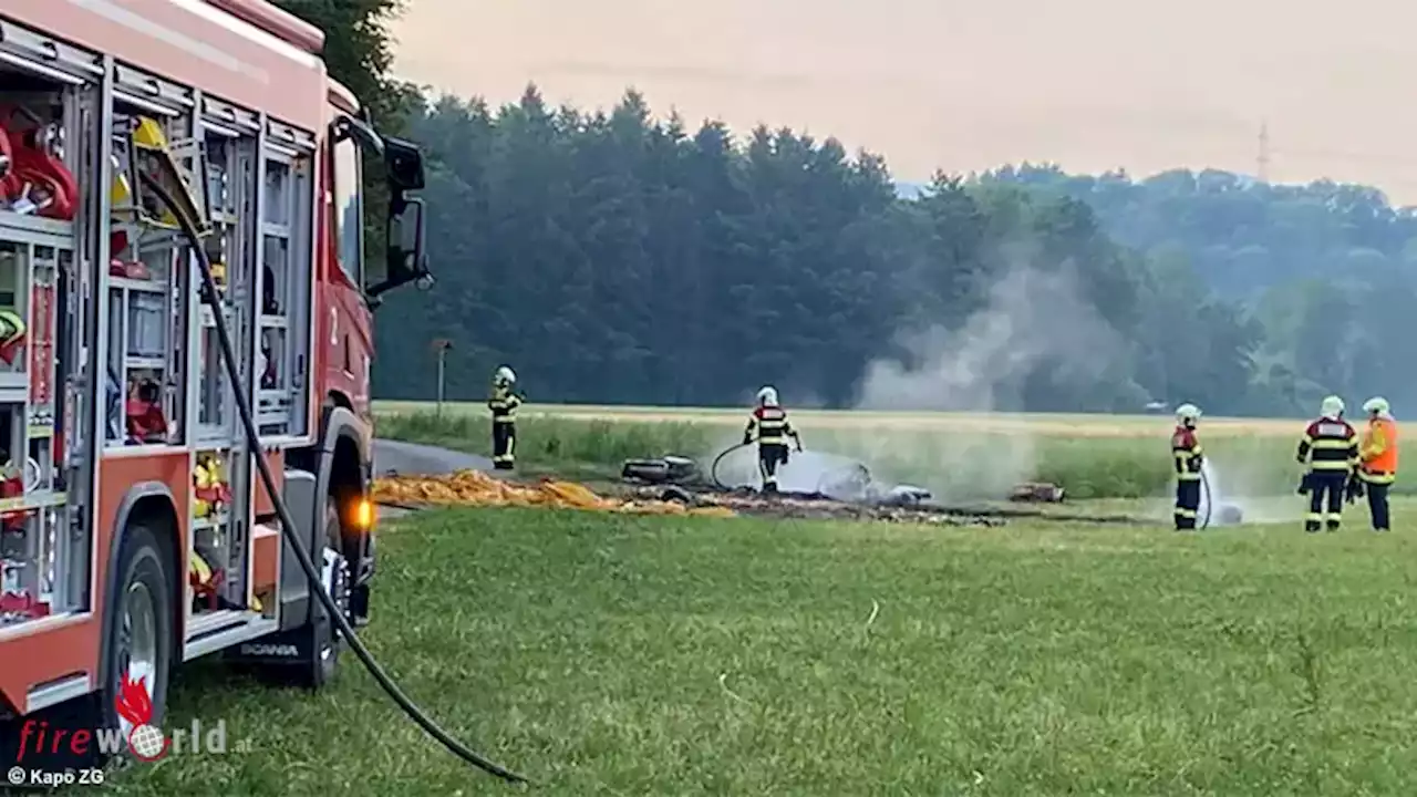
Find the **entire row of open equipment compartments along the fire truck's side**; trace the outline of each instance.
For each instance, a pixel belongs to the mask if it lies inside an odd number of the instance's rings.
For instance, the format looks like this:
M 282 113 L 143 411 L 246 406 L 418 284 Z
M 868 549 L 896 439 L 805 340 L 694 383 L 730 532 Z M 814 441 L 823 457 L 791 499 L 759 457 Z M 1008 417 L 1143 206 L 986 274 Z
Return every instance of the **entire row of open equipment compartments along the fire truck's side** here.
M 276 589 L 273 562 L 252 554 L 275 530 L 255 518 L 259 452 L 235 397 L 268 455 L 309 445 L 316 138 L 0 26 L 0 634 L 88 608 L 98 462 L 176 454 L 191 472 L 184 654 L 198 655 L 194 640 L 273 617 L 256 597 Z M 72 69 L 27 69 L 26 50 Z M 215 302 L 143 174 L 197 220 Z

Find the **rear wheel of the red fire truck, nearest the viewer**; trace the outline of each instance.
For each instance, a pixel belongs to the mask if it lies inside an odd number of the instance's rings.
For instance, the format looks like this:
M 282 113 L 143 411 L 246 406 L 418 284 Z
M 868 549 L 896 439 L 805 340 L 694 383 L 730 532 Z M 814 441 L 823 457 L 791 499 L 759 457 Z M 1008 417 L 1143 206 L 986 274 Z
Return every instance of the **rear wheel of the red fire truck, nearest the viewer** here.
M 167 708 L 167 675 L 173 647 L 173 587 L 157 535 L 145 525 L 132 525 L 119 552 L 118 601 L 108 625 L 108 684 L 102 712 L 108 728 L 129 733 L 128 720 L 118 715 L 125 682 L 140 682 L 152 701 L 147 725 L 160 726 Z M 132 689 L 133 686 L 128 686 Z

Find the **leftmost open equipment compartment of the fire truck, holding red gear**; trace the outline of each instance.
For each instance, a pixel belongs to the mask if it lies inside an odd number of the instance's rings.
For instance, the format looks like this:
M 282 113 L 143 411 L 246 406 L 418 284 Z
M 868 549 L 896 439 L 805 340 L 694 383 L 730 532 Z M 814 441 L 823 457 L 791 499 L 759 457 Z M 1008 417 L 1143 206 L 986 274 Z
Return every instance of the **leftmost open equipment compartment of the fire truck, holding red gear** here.
M 0 20 L 0 632 L 89 606 L 101 60 Z M 45 62 L 33 52 L 48 52 Z

